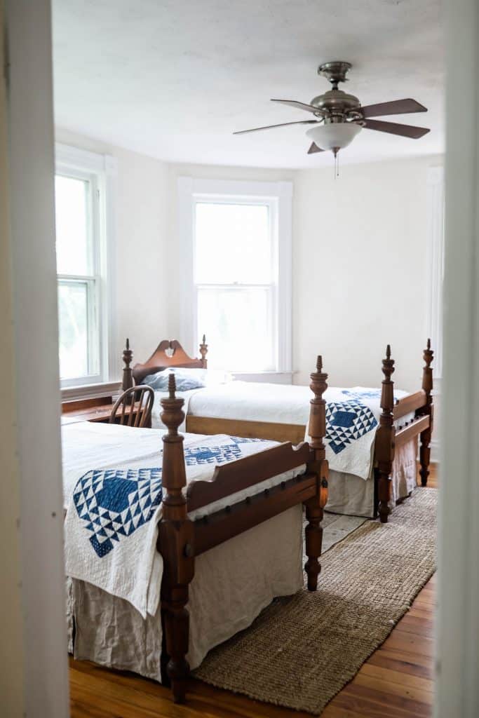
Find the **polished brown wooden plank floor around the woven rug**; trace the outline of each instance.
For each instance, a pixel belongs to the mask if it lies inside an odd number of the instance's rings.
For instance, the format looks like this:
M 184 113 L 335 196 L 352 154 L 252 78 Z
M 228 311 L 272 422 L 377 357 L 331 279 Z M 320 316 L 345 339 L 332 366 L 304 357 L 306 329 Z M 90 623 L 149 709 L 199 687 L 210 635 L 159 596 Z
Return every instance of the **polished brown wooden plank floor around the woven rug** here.
M 432 472 L 429 485 L 437 486 Z M 435 576 L 385 643 L 322 712 L 322 718 L 409 718 L 432 715 Z M 72 718 L 300 718 L 309 714 L 252 701 L 191 681 L 176 706 L 167 689 L 138 676 L 70 660 Z M 310 717 L 309 717 L 310 718 Z

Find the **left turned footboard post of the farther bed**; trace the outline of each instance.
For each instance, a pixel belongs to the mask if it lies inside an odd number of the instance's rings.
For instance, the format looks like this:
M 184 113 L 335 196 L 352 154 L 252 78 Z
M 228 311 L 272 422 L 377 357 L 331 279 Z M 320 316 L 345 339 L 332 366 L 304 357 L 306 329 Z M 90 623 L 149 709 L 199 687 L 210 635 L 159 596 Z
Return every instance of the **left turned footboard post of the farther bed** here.
M 389 516 L 389 495 L 391 493 L 391 470 L 394 460 L 394 359 L 391 359 L 391 345 L 386 347 L 386 359 L 382 361 L 383 388 L 381 391 L 381 416 L 376 432 L 375 491 L 377 510 L 381 523 L 386 523 Z

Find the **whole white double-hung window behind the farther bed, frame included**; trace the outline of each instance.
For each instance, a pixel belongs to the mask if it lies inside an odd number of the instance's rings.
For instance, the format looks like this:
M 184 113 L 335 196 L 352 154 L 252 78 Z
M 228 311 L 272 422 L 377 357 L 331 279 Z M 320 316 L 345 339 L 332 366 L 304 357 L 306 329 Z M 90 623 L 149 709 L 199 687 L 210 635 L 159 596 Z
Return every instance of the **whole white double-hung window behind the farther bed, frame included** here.
M 188 343 L 235 373 L 291 372 L 289 182 L 180 178 Z

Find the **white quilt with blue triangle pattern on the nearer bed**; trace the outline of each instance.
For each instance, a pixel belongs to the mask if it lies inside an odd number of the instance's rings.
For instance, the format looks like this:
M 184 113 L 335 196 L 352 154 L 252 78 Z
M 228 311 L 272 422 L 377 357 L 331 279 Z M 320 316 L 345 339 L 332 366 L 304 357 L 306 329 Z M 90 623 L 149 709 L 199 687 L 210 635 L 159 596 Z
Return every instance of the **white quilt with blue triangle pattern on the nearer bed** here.
M 85 460 L 79 461 L 78 457 L 71 455 L 75 452 L 75 441 L 65 441 L 65 434 L 68 439 L 75 434 L 75 426 L 78 427 L 77 447 L 82 445 L 82 432 L 88 436 L 94 434 L 97 441 L 96 449 L 90 449 L 88 461 L 92 463 L 87 470 Z M 80 424 L 73 424 L 70 432 L 67 431 L 69 428 L 64 427 L 63 441 L 65 483 L 70 487 L 65 517 L 66 573 L 124 598 L 143 617 L 147 613 L 154 615 L 162 577 L 162 557 L 156 550 L 157 523 L 162 507 L 162 432 L 124 426 L 97 426 L 90 430 Z M 103 450 L 101 429 L 105 429 Z M 124 437 L 131 438 L 128 432 L 143 434 L 136 435 L 129 459 L 124 447 L 118 449 L 123 454 L 121 461 L 115 464 L 115 434 L 121 441 Z M 213 477 L 218 464 L 254 454 L 274 443 L 226 435 L 187 435 L 187 481 L 208 480 Z M 301 470 L 303 467 L 287 472 L 288 477 Z M 274 485 L 285 477 L 274 477 L 268 480 L 268 485 Z M 266 482 L 264 484 L 259 485 L 260 490 L 266 488 Z M 235 498 L 239 500 L 242 497 L 238 495 Z M 223 505 L 230 501 L 231 497 Z M 220 503 L 205 507 L 202 513 L 208 513 L 209 508 L 221 508 Z

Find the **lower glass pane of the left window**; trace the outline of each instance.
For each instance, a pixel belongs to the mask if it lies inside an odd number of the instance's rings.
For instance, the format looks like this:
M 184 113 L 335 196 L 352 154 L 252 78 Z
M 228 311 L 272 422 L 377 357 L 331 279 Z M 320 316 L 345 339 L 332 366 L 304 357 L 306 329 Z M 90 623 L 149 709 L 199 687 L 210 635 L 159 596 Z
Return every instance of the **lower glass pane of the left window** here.
M 98 373 L 96 352 L 90 347 L 88 282 L 58 283 L 60 378 L 73 379 Z M 90 362 L 88 350 L 90 349 Z M 89 366 L 90 364 L 90 366 Z

